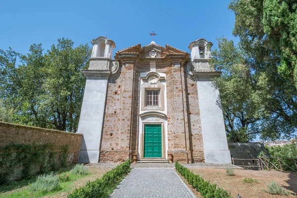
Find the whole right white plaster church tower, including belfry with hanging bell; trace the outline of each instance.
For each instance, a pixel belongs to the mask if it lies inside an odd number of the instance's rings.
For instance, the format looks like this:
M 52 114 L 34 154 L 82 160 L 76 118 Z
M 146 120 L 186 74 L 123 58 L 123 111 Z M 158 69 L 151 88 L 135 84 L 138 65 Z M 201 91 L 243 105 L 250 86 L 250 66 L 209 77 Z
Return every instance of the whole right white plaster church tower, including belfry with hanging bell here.
M 189 45 L 192 61 L 187 64 L 187 71 L 197 81 L 205 163 L 230 164 L 220 93 L 212 81 L 221 72 L 209 66 L 211 46 L 212 43 L 205 39 L 198 39 Z

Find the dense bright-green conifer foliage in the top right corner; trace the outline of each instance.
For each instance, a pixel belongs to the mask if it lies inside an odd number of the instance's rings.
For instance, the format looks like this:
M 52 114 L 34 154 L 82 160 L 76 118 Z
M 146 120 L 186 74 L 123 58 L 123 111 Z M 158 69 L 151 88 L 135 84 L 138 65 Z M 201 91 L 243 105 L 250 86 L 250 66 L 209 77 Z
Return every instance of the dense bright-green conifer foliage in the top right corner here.
M 297 2 L 264 0 L 261 23 L 272 47 L 280 50 L 278 72 L 297 87 Z M 293 78 L 293 79 L 292 79 Z

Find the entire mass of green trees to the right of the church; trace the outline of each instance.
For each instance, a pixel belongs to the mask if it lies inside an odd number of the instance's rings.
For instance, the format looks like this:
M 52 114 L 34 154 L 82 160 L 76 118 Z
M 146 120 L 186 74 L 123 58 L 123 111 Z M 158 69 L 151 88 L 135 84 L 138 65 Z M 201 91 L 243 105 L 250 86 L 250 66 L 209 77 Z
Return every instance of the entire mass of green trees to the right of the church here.
M 233 0 L 238 46 L 219 39 L 211 65 L 229 141 L 289 139 L 297 128 L 296 1 Z

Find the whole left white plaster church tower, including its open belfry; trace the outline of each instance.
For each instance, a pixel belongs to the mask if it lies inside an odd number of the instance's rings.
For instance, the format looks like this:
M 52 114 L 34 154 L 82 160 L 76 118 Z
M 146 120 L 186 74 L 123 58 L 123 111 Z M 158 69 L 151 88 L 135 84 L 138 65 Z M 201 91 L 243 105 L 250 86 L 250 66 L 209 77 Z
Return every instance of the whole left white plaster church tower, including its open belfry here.
M 112 68 L 118 62 L 111 60 L 112 50 L 115 48 L 113 41 L 98 37 L 91 43 L 93 50 L 90 65 L 87 70 L 82 71 L 87 80 L 78 125 L 78 133 L 84 135 L 79 162 L 98 163 L 107 81 Z

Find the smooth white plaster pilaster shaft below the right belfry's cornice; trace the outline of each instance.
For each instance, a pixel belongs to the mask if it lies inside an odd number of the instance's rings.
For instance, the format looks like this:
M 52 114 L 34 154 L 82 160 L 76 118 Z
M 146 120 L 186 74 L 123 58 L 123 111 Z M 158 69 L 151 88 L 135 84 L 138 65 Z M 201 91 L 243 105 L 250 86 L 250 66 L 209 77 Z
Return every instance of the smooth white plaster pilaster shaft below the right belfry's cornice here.
M 205 163 L 230 164 L 220 94 L 211 80 L 197 81 Z

